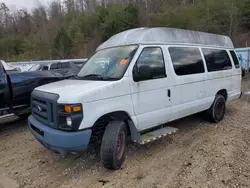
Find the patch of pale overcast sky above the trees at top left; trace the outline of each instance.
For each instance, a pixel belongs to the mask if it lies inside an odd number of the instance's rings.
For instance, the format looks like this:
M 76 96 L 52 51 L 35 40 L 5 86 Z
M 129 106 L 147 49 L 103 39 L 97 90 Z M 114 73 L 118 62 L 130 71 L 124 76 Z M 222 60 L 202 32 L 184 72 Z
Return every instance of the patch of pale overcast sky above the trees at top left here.
M 0 0 L 0 2 L 6 3 L 11 10 L 17 10 L 20 8 L 26 8 L 31 10 L 41 4 L 46 5 L 50 0 Z

